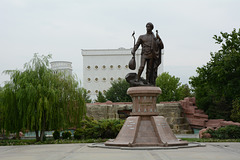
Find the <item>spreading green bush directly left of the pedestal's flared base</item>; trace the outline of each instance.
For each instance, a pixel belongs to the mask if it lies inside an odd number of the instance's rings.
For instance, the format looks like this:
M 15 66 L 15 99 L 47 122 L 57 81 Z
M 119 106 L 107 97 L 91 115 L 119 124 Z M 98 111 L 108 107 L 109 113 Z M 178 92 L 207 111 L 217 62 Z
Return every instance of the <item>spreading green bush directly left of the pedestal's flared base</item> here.
M 115 138 L 122 128 L 124 120 L 93 120 L 86 118 L 80 122 L 80 128 L 74 132 L 75 139 Z

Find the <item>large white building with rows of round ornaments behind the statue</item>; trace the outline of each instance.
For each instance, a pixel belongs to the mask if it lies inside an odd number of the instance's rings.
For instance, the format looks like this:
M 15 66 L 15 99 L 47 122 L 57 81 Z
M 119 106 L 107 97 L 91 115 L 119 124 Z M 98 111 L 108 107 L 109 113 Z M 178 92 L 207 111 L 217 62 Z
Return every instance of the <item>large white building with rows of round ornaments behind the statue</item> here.
M 130 70 L 128 63 L 132 58 L 131 49 L 94 49 L 82 50 L 83 56 L 83 87 L 91 99 L 96 99 L 99 91 L 106 92 L 111 81 L 125 79 L 128 73 L 137 73 L 140 65 L 141 50 L 136 51 L 136 69 Z M 158 73 L 163 72 L 163 63 Z M 146 77 L 144 69 L 142 77 Z

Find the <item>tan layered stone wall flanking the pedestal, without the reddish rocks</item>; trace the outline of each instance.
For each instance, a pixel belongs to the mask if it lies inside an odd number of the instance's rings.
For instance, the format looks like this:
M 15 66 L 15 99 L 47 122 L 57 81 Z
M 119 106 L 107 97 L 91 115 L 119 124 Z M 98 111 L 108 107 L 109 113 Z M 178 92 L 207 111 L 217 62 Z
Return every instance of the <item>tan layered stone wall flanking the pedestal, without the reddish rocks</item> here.
M 179 102 L 165 102 L 156 105 L 160 116 L 164 116 L 174 133 L 191 133 L 192 129 L 184 116 Z M 131 102 L 89 103 L 87 104 L 87 116 L 96 120 L 119 119 L 120 112 L 129 113 L 132 110 Z

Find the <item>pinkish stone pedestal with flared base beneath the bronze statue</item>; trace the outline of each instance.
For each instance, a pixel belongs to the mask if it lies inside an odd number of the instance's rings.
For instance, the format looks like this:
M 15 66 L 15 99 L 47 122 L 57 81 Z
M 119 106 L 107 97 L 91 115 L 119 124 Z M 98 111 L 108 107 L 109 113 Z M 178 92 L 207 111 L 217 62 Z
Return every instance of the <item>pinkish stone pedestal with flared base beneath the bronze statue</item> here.
M 179 141 L 163 116 L 156 110 L 159 87 L 131 87 L 127 94 L 132 97 L 133 109 L 114 141 L 107 146 L 176 146 L 188 145 Z

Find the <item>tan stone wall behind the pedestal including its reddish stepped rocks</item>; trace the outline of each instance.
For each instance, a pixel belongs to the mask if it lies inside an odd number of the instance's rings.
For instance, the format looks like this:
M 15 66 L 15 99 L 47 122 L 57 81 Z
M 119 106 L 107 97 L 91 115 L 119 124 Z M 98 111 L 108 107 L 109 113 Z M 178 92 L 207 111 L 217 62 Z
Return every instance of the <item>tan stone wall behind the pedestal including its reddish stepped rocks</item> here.
M 208 119 L 203 110 L 198 109 L 194 97 L 187 97 L 178 102 L 162 102 L 156 105 L 159 115 L 164 116 L 174 133 L 190 133 L 191 128 L 218 128 L 226 125 L 238 125 L 240 123 L 224 121 L 223 119 Z M 118 119 L 120 112 L 130 113 L 131 102 L 89 103 L 87 104 L 87 116 L 96 120 Z

